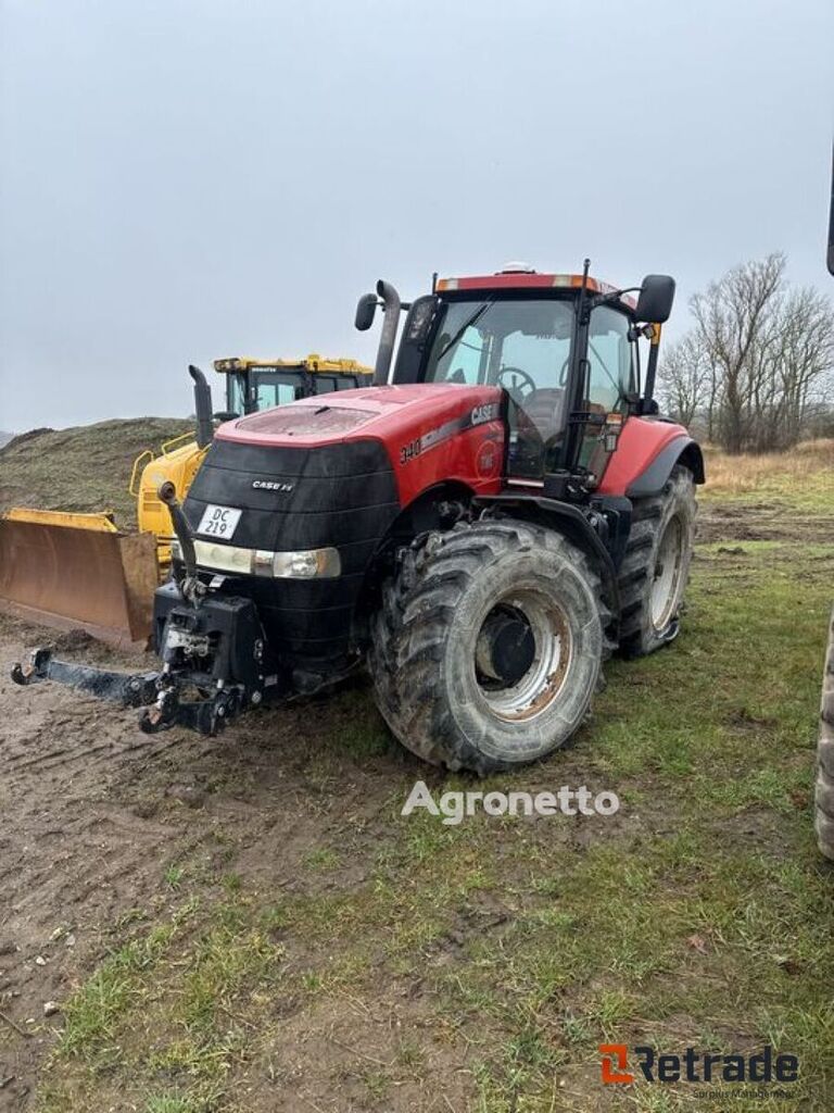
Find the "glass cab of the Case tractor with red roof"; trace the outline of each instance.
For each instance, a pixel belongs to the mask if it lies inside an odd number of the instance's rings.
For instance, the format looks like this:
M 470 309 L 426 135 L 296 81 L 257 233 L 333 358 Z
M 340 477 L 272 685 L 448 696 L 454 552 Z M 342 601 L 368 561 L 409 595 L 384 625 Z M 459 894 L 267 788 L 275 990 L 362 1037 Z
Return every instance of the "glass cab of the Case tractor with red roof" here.
M 675 284 L 649 275 L 639 289 L 636 299 L 590 277 L 587 265 L 582 275 L 513 266 L 441 278 L 408 307 L 391 382 L 500 388 L 508 482 L 573 474 L 593 490 L 626 417 L 653 408 L 657 343 Z M 367 314 L 369 296 L 364 302 Z M 644 337 L 653 354 L 642 398 Z

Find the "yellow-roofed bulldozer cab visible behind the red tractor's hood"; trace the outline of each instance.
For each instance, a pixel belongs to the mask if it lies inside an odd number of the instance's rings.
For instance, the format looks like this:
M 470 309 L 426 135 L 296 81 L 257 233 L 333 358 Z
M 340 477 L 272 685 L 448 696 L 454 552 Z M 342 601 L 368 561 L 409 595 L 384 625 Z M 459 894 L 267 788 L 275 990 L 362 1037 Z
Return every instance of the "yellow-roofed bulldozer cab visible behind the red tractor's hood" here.
M 355 359 L 216 359 L 215 371 L 226 374 L 226 412 L 231 416 L 257 413 L 297 398 L 332 391 L 369 386 L 374 372 Z

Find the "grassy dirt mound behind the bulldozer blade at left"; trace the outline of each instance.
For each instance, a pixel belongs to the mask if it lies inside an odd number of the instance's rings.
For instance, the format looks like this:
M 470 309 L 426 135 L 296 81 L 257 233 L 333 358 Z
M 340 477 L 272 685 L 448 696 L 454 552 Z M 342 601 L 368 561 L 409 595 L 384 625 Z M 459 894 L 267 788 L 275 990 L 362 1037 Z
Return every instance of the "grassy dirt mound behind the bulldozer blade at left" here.
M 0 511 L 112 510 L 121 529 L 135 529 L 136 505 L 128 492 L 133 460 L 192 427 L 176 417 L 136 417 L 22 433 L 0 449 Z

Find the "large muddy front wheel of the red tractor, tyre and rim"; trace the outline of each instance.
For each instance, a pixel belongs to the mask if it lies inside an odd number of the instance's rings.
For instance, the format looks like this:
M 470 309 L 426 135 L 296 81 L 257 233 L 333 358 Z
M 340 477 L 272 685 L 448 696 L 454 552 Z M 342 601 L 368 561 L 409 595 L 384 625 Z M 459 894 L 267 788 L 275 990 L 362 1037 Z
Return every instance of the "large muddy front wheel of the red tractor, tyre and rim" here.
M 534 761 L 585 718 L 607 619 L 587 558 L 558 533 L 508 520 L 431 533 L 374 619 L 379 710 L 434 765 L 483 776 Z

